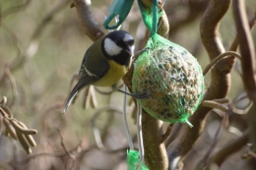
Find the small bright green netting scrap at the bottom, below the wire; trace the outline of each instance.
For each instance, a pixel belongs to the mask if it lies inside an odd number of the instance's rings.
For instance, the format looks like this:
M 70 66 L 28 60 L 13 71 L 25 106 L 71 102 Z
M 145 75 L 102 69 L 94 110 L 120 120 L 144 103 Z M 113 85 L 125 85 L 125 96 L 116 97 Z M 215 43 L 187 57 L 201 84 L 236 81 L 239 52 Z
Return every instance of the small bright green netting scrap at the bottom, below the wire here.
M 128 170 L 149 170 L 144 164 L 140 163 L 140 154 L 136 150 L 127 150 L 127 164 Z

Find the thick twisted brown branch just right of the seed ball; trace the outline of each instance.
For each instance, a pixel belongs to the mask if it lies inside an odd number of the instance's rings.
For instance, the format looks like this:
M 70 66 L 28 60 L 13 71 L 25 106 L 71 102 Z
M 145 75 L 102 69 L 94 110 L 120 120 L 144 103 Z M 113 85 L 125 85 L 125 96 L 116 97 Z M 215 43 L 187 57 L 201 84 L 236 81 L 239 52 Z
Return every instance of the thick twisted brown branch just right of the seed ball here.
M 219 26 L 230 3 L 231 0 L 212 0 L 201 21 L 201 38 L 211 61 L 224 53 L 224 46 L 219 37 Z M 213 68 L 212 82 L 204 99 L 212 100 L 225 97 L 230 88 L 229 73 L 233 67 L 234 61 L 235 59 L 233 57 L 229 57 L 218 62 L 215 68 Z M 194 115 L 191 116 L 189 122 L 191 122 L 194 127 L 184 127 L 179 142 L 174 143 L 168 151 L 170 162 L 177 157 L 182 159 L 193 147 L 204 129 L 205 118 L 209 111 L 211 111 L 210 108 L 199 106 Z

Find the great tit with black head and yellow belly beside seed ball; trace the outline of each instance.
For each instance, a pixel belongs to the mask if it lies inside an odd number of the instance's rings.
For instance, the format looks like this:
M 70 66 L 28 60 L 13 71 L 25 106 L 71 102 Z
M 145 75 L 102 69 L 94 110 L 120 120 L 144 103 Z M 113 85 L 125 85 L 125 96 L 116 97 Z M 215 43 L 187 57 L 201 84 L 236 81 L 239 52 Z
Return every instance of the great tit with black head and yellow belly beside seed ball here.
M 63 113 L 87 85 L 115 85 L 130 67 L 133 53 L 134 38 L 127 31 L 115 30 L 98 38 L 84 55 L 79 81 L 72 89 Z

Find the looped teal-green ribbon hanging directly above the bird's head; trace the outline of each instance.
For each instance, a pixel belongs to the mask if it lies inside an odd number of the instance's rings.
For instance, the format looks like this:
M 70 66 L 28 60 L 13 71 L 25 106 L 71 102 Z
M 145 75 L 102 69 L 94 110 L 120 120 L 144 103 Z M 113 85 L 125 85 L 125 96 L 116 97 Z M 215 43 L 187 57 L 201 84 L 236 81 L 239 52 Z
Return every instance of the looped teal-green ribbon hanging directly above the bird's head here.
M 127 18 L 129 12 L 131 11 L 134 0 L 114 0 L 110 5 L 108 12 L 109 16 L 105 19 L 103 27 L 106 29 L 118 28 L 124 20 Z M 109 23 L 118 17 L 119 21 L 114 26 L 108 26 Z

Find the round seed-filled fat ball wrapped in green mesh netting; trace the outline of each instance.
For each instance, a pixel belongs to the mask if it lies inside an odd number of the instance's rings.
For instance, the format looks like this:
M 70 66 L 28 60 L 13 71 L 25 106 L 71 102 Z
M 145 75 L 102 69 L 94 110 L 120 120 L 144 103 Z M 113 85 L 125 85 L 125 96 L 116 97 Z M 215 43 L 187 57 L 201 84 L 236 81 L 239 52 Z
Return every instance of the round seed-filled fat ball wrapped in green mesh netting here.
M 133 92 L 149 92 L 138 99 L 151 116 L 165 122 L 188 122 L 203 98 L 202 69 L 185 48 L 153 34 L 136 61 Z

